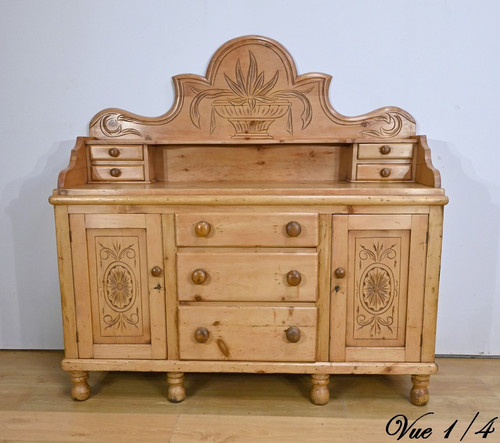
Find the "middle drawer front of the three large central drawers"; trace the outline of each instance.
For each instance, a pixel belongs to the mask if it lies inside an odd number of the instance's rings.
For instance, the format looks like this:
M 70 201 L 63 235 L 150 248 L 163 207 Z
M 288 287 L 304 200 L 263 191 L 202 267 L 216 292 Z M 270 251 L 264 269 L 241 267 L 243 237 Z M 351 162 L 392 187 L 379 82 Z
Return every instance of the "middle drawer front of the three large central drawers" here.
M 179 300 L 314 302 L 318 254 L 312 250 L 181 250 Z

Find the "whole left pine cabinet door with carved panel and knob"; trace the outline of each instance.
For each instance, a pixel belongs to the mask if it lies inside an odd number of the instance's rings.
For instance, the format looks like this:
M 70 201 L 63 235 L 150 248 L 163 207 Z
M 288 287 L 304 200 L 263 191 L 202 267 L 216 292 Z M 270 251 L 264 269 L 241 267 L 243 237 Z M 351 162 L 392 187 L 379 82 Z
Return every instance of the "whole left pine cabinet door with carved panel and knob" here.
M 159 214 L 72 214 L 79 358 L 164 359 Z

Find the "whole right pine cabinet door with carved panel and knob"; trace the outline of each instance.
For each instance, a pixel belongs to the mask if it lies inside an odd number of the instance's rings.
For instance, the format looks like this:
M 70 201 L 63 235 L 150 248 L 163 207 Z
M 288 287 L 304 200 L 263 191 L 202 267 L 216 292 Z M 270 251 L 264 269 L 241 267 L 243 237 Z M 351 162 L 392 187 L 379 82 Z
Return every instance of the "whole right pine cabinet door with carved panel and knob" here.
M 333 216 L 332 361 L 420 361 L 427 222 Z

